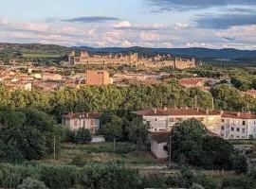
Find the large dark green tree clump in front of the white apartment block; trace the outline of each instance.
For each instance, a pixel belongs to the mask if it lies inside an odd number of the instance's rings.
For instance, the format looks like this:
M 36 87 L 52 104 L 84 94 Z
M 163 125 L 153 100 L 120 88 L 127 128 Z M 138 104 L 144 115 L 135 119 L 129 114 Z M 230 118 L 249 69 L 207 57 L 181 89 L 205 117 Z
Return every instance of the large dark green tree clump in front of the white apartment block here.
M 190 119 L 177 123 L 171 134 L 174 161 L 207 169 L 247 172 L 247 159 L 237 157 L 233 146 L 226 140 L 210 136 L 201 122 Z

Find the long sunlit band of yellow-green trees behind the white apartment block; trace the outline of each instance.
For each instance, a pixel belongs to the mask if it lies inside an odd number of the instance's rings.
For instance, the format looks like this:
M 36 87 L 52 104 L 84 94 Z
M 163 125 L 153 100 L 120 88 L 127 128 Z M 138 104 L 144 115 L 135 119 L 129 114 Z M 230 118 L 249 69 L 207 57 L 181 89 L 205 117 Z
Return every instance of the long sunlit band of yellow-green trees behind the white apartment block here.
M 197 89 L 186 90 L 177 83 L 146 85 L 87 86 L 82 89 L 64 88 L 55 92 L 9 91 L 0 87 L 0 108 L 35 108 L 55 115 L 59 120 L 66 112 L 129 112 L 152 107 L 193 106 L 197 95 L 201 108 L 211 106 L 211 95 Z

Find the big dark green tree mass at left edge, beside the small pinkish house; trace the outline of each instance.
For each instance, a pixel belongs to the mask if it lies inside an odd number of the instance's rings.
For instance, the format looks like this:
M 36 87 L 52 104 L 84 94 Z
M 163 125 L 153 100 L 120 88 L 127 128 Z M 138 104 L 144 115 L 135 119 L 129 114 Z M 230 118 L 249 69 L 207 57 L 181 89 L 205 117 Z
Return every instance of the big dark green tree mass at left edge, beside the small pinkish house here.
M 0 126 L 0 161 L 38 160 L 53 152 L 59 137 L 55 120 L 32 109 L 0 112 Z

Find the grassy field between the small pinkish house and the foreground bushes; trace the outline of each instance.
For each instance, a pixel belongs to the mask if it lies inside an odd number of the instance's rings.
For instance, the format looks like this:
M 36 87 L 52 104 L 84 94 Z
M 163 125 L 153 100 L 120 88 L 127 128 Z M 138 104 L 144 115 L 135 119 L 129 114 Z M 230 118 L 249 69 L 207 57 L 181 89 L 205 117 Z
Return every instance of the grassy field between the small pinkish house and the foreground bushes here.
M 131 143 L 116 143 L 114 153 L 113 143 L 74 145 L 63 144 L 61 152 L 53 160 L 49 156 L 42 160 L 43 163 L 57 164 L 82 164 L 82 163 L 149 163 L 155 164 L 157 161 L 147 150 L 137 151 L 136 146 Z

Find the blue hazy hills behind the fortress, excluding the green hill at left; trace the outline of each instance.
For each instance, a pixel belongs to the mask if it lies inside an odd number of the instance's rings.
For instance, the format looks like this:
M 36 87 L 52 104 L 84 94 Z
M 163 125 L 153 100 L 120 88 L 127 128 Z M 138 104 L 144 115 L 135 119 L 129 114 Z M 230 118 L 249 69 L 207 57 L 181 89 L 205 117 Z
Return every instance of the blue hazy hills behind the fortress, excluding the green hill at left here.
M 145 48 L 145 47 L 106 47 L 106 48 L 92 48 L 88 46 L 78 46 L 71 47 L 72 49 L 88 50 L 89 52 L 112 52 L 112 53 L 121 53 L 121 52 L 138 52 L 145 55 L 155 55 L 155 54 L 172 54 L 185 57 L 195 57 L 202 59 L 229 59 L 235 60 L 239 58 L 244 59 L 255 59 L 256 50 L 237 50 L 231 48 L 224 49 L 209 49 L 209 48 Z

